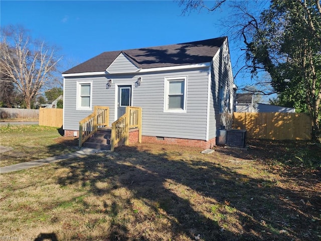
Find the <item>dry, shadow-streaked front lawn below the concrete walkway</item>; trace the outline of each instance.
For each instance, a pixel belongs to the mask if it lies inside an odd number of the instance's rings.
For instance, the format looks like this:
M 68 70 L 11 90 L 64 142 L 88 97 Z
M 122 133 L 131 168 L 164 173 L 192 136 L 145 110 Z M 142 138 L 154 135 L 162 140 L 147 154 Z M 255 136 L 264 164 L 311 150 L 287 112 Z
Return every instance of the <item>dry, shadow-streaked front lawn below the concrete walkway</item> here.
M 320 170 L 288 167 L 291 150 L 275 145 L 205 155 L 141 144 L 3 174 L 0 236 L 319 240 Z

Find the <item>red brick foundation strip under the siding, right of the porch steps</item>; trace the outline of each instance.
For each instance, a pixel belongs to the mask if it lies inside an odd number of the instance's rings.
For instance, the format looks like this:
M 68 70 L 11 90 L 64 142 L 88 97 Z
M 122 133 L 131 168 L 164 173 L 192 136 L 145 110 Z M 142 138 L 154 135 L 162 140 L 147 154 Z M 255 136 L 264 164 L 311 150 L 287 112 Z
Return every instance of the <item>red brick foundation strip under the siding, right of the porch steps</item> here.
M 164 137 L 164 140 L 163 140 L 163 137 L 156 138 L 156 137 L 142 136 L 141 142 L 156 143 L 156 144 L 171 144 L 171 145 L 179 145 L 179 146 L 185 146 L 185 147 L 198 147 L 202 149 L 211 149 L 216 145 L 216 138 L 213 138 L 209 141 L 203 141 L 203 140 L 195 140 L 195 139 Z

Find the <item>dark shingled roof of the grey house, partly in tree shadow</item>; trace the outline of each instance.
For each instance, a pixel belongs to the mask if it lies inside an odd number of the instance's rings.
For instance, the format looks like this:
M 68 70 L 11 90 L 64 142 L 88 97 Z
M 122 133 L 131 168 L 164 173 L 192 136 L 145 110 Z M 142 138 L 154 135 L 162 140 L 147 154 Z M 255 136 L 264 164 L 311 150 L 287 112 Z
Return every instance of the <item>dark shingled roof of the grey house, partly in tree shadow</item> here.
M 211 62 L 227 37 L 183 44 L 104 52 L 63 74 L 103 72 L 120 53 L 125 54 L 138 68 L 148 69 Z

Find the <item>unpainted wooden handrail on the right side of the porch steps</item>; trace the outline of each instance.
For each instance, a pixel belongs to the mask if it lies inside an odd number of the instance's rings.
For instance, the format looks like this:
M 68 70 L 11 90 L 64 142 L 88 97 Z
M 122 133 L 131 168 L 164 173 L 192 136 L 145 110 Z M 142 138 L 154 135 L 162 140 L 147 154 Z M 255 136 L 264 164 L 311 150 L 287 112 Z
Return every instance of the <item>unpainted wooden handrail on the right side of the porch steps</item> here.
M 138 143 L 141 143 L 141 108 L 126 106 L 126 112 L 111 124 L 111 151 L 116 146 L 129 145 L 129 129 L 138 128 Z

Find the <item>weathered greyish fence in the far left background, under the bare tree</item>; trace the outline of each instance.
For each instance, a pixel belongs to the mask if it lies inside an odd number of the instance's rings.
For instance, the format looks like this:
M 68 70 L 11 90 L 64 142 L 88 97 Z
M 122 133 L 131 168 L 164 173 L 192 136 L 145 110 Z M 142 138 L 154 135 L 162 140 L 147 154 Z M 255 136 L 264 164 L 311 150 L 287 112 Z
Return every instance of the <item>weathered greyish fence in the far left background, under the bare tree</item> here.
M 39 109 L 18 109 L 18 108 L 0 108 L 0 117 L 2 119 L 26 119 L 39 118 Z

